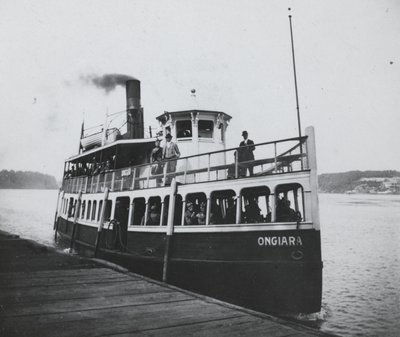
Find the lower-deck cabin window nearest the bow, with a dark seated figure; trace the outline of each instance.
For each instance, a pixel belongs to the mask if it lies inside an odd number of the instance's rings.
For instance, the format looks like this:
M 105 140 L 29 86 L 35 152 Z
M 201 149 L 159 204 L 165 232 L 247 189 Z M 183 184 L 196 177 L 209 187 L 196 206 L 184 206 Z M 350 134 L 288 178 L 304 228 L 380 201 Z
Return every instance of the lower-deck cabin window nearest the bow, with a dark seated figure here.
M 275 189 L 276 221 L 297 222 L 305 220 L 304 191 L 300 184 L 278 185 Z

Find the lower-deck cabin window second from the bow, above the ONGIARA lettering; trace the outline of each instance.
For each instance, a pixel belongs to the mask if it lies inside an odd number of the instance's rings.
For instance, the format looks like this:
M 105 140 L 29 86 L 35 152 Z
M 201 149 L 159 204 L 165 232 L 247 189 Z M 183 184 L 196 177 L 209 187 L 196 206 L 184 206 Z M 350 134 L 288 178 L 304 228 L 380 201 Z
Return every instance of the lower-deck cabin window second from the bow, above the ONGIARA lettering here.
M 270 194 L 266 186 L 244 188 L 241 192 L 241 223 L 271 222 Z

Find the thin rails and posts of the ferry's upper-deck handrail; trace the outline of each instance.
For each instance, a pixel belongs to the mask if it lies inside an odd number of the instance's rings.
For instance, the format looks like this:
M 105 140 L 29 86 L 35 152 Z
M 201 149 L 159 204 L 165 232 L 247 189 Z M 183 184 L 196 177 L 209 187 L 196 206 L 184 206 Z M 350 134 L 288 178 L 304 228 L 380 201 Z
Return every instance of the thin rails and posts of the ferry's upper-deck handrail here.
M 80 175 L 76 177 L 69 177 L 69 178 L 63 178 L 63 188 L 65 190 L 65 187 L 67 187 L 68 190 L 72 190 L 73 192 L 77 192 L 78 189 L 81 190 L 83 189 L 85 192 L 102 192 L 104 191 L 105 187 L 109 187 L 111 190 L 133 190 L 136 188 L 144 189 L 144 188 L 150 188 L 154 187 L 151 186 L 150 181 L 157 182 L 157 186 L 167 186 L 166 180 L 172 179 L 173 177 L 177 176 L 183 176 L 183 183 L 187 183 L 187 177 L 188 176 L 193 176 L 193 181 L 217 181 L 220 179 L 232 179 L 232 178 L 239 178 L 243 177 L 243 170 L 246 175 L 246 168 L 248 167 L 259 167 L 258 171 L 254 173 L 255 176 L 259 175 L 266 175 L 266 174 L 273 174 L 277 173 L 278 171 L 281 172 L 285 168 L 287 171 L 292 171 L 292 163 L 300 161 L 301 163 L 301 169 L 303 170 L 303 158 L 307 158 L 307 153 L 303 153 L 301 150 L 300 153 L 292 154 L 293 151 L 296 149 L 300 148 L 302 149 L 302 145 L 306 141 L 307 136 L 303 137 L 294 137 L 294 138 L 287 138 L 287 139 L 281 139 L 281 140 L 276 140 L 276 141 L 270 141 L 270 142 L 263 142 L 263 143 L 258 143 L 258 144 L 251 144 L 247 146 L 241 146 L 241 147 L 234 147 L 234 148 L 229 148 L 225 150 L 218 150 L 218 151 L 212 151 L 212 152 L 207 152 L 207 153 L 202 153 L 202 154 L 196 154 L 196 155 L 191 155 L 191 156 L 185 156 L 179 159 L 169 159 L 169 160 L 163 160 L 161 162 L 162 165 L 164 165 L 164 171 L 162 173 L 158 174 L 150 174 L 151 167 L 153 165 L 156 165 L 157 163 L 144 163 L 140 165 L 135 165 L 135 166 L 128 166 L 124 168 L 119 168 L 115 170 L 107 170 L 103 171 L 99 174 L 90 176 L 90 175 Z M 291 141 L 298 141 L 297 144 L 292 146 L 290 149 L 285 150 L 285 152 L 280 153 L 279 155 L 277 154 L 276 151 L 276 146 L 279 143 L 284 143 L 284 142 L 291 142 Z M 257 149 L 262 149 L 262 146 L 268 146 L 268 145 L 274 145 L 274 154 L 272 157 L 266 157 L 262 159 L 256 159 L 256 160 L 247 160 L 247 161 L 238 161 L 238 156 L 235 155 L 235 160 L 233 163 L 227 164 L 226 162 L 224 164 L 216 164 L 212 166 L 212 161 L 211 158 L 213 155 L 217 155 L 220 153 L 228 153 L 228 152 L 233 152 L 238 151 L 239 149 L 242 150 L 246 147 L 255 147 Z M 268 149 L 268 148 L 267 148 Z M 262 150 L 260 150 L 262 151 Z M 298 152 L 298 151 L 297 151 Z M 206 158 L 207 163 L 204 163 L 204 167 L 198 167 L 196 169 L 189 169 L 188 168 L 188 163 L 190 159 L 193 158 Z M 218 158 L 218 157 L 217 157 Z M 167 172 L 166 168 L 167 165 L 169 165 L 169 162 L 172 161 L 178 161 L 179 163 L 185 163 L 185 165 L 179 171 L 175 172 Z M 271 164 L 270 167 L 265 169 L 263 165 L 265 164 Z M 260 171 L 261 167 L 261 171 Z M 130 169 L 130 173 L 128 176 L 124 176 L 122 171 L 123 170 L 128 170 Z M 147 171 L 140 171 L 140 170 L 147 170 Z M 225 173 L 222 173 L 222 178 L 221 174 L 219 171 L 226 170 Z M 234 174 L 232 174 L 232 171 L 234 170 Z M 295 169 L 296 170 L 296 169 Z M 142 172 L 144 175 L 136 176 L 137 172 Z M 229 173 L 230 172 L 230 173 Z M 132 175 L 133 173 L 133 175 Z M 200 174 L 200 179 L 198 178 L 198 175 Z M 201 176 L 201 174 L 203 174 Z M 205 175 L 204 175 L 205 174 Z M 211 174 L 213 174 L 213 177 L 211 177 Z M 112 177 L 112 180 L 108 179 L 109 177 Z M 164 183 L 162 185 L 159 184 L 160 181 L 164 180 Z M 119 185 L 118 185 L 119 184 Z M 152 183 L 154 185 L 154 183 Z M 68 186 L 67 186 L 68 185 Z M 115 186 L 118 186 L 115 188 Z

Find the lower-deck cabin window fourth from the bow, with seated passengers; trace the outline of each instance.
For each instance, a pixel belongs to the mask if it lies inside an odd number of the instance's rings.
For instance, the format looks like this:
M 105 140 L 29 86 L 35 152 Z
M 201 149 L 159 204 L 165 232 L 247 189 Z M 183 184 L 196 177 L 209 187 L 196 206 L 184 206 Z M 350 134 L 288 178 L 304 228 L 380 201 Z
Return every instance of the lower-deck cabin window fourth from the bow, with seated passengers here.
M 205 193 L 190 193 L 186 196 L 185 226 L 206 224 L 207 197 Z

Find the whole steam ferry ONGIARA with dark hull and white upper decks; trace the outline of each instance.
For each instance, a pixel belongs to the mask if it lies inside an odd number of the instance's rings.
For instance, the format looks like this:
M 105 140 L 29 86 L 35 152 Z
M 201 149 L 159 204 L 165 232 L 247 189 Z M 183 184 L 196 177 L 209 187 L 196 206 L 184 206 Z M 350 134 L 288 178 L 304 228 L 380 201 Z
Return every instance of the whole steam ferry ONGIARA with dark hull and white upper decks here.
M 107 141 L 106 123 L 97 147 L 81 139 L 79 153 L 65 161 L 56 237 L 80 253 L 240 306 L 319 311 L 313 128 L 227 148 L 232 117 L 193 109 L 162 113 L 160 132 L 145 138 L 140 81 L 127 81 L 126 95 L 126 133 Z M 152 162 L 155 141 L 165 147 L 167 138 L 180 156 Z

